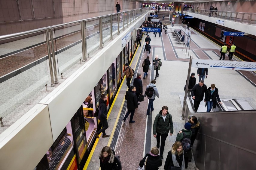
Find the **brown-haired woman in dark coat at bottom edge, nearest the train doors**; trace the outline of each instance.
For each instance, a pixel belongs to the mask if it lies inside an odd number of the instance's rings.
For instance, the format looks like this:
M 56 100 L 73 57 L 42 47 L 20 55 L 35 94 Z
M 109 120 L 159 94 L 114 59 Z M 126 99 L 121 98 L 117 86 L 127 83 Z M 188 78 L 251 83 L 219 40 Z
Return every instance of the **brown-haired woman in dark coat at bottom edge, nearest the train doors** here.
M 101 153 L 99 154 L 99 160 L 101 170 L 122 169 L 120 161 L 114 156 L 113 151 L 108 146 L 102 148 Z

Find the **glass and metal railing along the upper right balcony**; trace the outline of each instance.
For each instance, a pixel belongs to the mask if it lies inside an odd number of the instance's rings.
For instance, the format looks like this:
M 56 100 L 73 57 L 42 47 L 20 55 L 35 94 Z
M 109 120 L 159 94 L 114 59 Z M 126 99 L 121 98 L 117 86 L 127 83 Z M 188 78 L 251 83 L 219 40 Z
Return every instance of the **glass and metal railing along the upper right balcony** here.
M 184 12 L 195 13 L 199 15 L 224 19 L 227 21 L 238 22 L 248 25 L 256 25 L 256 13 L 241 13 L 241 12 L 231 12 L 231 11 L 215 11 L 215 10 L 205 10 L 205 9 L 191 9 L 183 8 Z

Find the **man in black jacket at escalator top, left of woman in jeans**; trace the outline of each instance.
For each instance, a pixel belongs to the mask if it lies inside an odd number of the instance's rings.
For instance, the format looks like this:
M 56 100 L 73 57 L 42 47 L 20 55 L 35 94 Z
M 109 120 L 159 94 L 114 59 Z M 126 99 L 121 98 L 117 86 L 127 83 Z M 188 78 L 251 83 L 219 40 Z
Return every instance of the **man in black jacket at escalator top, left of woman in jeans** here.
M 203 94 L 206 94 L 207 91 L 207 86 L 204 84 L 203 80 L 200 80 L 199 84 L 196 84 L 192 89 L 191 89 L 191 95 L 192 98 L 194 99 L 194 108 L 197 111 L 200 102 L 203 101 Z

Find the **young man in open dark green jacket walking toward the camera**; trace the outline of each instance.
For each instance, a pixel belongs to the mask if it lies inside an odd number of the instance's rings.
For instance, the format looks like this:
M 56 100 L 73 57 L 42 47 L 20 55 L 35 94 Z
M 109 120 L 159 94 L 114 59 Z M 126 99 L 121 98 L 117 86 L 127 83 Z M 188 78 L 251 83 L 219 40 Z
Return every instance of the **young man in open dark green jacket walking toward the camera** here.
M 170 136 L 173 133 L 172 115 L 168 113 L 168 107 L 163 106 L 159 114 L 157 114 L 154 125 L 153 125 L 153 135 L 157 138 L 157 148 L 160 146 L 160 136 L 161 137 L 161 147 L 160 147 L 160 157 L 163 159 L 163 150 L 165 145 L 165 140 L 171 129 Z

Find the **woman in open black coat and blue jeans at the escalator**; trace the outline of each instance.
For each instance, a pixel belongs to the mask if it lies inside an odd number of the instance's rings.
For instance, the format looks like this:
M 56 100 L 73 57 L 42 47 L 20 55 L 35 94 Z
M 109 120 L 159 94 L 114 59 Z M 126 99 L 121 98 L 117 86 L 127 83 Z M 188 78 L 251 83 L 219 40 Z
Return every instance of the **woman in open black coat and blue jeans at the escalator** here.
M 219 90 L 215 87 L 215 84 L 212 84 L 211 87 L 209 87 L 206 90 L 206 95 L 204 98 L 204 102 L 207 105 L 207 111 L 206 112 L 210 112 L 212 110 L 212 107 L 215 108 L 217 105 L 217 99 L 218 102 L 221 104 L 221 99 L 219 97 Z M 217 99 L 216 99 L 217 97 Z

